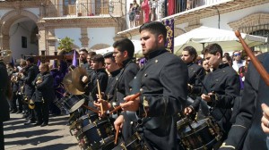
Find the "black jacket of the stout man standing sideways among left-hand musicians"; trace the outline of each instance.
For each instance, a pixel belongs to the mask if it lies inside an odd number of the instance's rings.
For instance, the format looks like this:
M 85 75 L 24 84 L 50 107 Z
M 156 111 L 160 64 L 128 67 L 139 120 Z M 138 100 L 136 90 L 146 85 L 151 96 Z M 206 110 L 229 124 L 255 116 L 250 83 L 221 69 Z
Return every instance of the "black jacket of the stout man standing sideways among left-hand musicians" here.
M 37 80 L 41 78 L 42 83 L 36 84 Z M 44 72 L 43 74 L 39 73 L 36 79 L 33 81 L 33 85 L 36 87 L 35 90 L 35 102 L 42 102 L 44 98 L 44 102 L 52 102 L 55 98 L 54 88 L 53 88 L 54 79 L 49 72 Z

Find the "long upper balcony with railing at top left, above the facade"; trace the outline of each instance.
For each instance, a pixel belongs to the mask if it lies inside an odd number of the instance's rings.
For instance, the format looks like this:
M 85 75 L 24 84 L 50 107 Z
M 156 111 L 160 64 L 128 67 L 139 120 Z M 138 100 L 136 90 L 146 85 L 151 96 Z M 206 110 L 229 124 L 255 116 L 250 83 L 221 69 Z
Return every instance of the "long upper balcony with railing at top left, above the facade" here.
M 100 2 L 100 3 L 98 3 Z M 81 4 L 48 4 L 42 5 L 42 18 L 76 18 L 76 17 L 121 17 L 125 11 L 125 5 L 119 2 L 106 0 L 95 3 Z

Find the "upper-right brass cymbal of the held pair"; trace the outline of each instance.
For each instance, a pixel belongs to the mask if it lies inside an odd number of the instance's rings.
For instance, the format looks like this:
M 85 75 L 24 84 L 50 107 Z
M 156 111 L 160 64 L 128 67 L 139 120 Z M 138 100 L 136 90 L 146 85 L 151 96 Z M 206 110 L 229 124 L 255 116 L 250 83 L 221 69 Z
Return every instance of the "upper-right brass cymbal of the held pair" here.
M 74 87 L 76 87 L 81 92 L 85 92 L 82 83 L 83 76 L 88 77 L 86 70 L 82 67 L 76 67 L 74 71 L 72 71 L 72 83 L 74 84 Z

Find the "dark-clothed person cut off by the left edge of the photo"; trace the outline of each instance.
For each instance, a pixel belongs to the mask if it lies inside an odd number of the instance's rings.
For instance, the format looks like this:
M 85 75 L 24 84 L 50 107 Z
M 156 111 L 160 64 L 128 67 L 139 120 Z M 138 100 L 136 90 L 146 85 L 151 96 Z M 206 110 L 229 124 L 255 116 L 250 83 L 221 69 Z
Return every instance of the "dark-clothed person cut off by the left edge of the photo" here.
M 12 99 L 10 78 L 8 77 L 4 58 L 0 55 L 0 149 L 4 150 L 4 121 L 10 119 L 8 101 Z

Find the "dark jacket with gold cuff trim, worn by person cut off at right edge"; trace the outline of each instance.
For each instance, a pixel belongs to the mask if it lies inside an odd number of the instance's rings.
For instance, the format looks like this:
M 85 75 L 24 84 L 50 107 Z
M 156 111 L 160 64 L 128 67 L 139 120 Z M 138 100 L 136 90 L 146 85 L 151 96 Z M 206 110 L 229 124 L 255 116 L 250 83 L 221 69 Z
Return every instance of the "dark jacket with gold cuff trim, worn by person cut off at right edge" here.
M 269 53 L 260 54 L 257 58 L 269 72 Z M 261 128 L 261 104 L 269 104 L 268 91 L 269 87 L 260 78 L 253 63 L 249 63 L 239 114 L 221 149 L 267 149 L 266 134 Z

